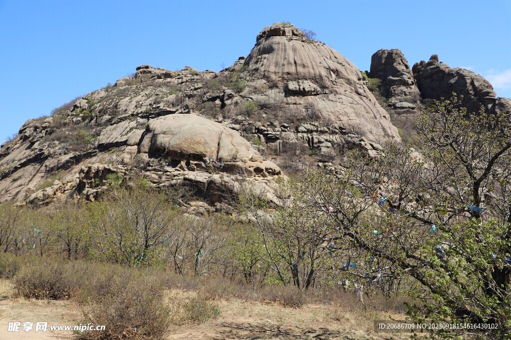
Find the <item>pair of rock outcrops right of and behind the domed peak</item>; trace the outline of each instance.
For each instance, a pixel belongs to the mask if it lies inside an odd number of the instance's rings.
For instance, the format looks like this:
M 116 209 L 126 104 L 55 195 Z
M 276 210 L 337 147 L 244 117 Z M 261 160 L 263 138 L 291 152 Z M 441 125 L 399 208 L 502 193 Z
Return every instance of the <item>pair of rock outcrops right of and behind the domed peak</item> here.
M 509 110 L 511 100 L 497 98 L 492 85 L 482 76 L 463 68 L 450 68 L 432 55 L 428 62 L 415 63 L 410 69 L 399 49 L 380 49 L 371 57 L 368 73 L 381 80 L 380 93 L 387 99 L 392 123 L 401 129 L 403 137 L 415 133 L 415 118 L 430 102 L 450 98 L 455 93 L 461 106 L 469 113 L 482 108 L 487 113 Z

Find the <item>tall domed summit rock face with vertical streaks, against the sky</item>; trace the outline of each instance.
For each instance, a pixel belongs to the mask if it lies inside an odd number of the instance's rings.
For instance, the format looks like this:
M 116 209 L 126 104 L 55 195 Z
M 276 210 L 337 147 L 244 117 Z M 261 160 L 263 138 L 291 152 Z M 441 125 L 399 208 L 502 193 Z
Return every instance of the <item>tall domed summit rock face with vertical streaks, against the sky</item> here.
M 293 25 L 274 24 L 258 35 L 243 66 L 277 88 L 251 95 L 259 102 L 283 102 L 300 111 L 313 106 L 318 120 L 341 130 L 358 130 L 372 141 L 399 140 L 360 71 L 330 46 L 305 38 Z

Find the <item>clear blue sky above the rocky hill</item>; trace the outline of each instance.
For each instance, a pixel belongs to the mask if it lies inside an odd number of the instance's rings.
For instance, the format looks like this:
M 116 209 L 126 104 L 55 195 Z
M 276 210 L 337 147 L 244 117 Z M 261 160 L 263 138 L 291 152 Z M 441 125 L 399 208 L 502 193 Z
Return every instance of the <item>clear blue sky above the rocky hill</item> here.
M 511 1 L 2 1 L 0 143 L 28 119 L 150 64 L 219 71 L 267 25 L 290 21 L 369 69 L 438 54 L 511 97 Z

